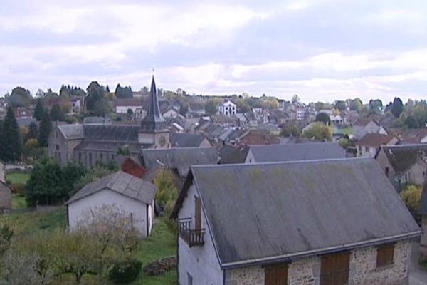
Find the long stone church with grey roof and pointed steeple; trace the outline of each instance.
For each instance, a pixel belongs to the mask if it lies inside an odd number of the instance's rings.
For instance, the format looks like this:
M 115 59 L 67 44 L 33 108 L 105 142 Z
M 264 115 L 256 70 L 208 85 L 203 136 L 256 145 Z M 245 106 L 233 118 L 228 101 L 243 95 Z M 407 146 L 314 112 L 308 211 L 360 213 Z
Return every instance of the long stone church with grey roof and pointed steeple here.
M 60 163 L 115 162 L 117 155 L 139 158 L 142 148 L 170 147 L 169 130 L 162 117 L 157 88 L 152 78 L 149 108 L 141 125 L 60 125 L 49 135 L 48 155 Z

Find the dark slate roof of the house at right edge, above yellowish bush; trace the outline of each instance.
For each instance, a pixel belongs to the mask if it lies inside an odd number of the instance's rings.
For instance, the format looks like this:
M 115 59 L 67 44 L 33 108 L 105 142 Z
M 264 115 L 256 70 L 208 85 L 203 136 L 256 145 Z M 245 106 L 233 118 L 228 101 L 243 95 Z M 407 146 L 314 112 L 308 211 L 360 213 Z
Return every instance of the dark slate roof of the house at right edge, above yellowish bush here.
M 418 153 L 423 152 L 427 156 L 427 145 L 389 145 L 382 146 L 384 154 L 388 158 L 395 172 L 404 172 L 417 161 Z

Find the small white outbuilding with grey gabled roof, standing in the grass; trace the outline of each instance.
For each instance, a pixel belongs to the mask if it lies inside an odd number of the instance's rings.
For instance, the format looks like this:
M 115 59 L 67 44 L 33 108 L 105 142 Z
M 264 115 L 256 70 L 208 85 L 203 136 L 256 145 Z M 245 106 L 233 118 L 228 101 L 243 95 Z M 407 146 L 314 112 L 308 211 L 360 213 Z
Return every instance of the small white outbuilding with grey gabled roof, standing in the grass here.
M 96 209 L 110 206 L 128 214 L 133 227 L 142 237 L 148 237 L 154 217 L 154 194 L 152 183 L 126 172 L 107 175 L 85 185 L 65 203 L 68 227 L 75 229 L 90 219 L 90 214 L 96 214 Z

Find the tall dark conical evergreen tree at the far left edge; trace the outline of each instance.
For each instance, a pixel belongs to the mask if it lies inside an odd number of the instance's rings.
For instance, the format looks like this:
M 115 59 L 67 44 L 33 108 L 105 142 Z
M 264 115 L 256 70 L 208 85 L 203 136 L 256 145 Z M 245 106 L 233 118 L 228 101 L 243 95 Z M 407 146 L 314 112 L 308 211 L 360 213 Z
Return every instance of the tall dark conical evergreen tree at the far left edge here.
M 2 137 L 4 160 L 6 162 L 20 160 L 22 151 L 21 134 L 19 133 L 18 123 L 16 123 L 14 108 L 11 106 L 7 108 Z

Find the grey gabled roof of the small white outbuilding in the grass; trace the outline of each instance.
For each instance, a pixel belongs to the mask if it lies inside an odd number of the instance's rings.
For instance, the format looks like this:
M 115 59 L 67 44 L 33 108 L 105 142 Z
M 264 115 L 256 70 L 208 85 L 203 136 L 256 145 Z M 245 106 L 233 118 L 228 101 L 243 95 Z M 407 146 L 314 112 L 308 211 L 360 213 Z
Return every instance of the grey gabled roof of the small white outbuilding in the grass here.
M 145 204 L 152 203 L 156 192 L 156 188 L 152 183 L 129 175 L 126 172 L 118 171 L 85 185 L 65 204 L 73 203 L 105 189 L 112 190 L 131 199 L 136 199 Z

